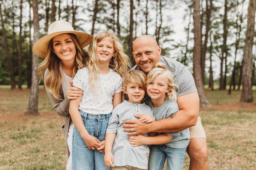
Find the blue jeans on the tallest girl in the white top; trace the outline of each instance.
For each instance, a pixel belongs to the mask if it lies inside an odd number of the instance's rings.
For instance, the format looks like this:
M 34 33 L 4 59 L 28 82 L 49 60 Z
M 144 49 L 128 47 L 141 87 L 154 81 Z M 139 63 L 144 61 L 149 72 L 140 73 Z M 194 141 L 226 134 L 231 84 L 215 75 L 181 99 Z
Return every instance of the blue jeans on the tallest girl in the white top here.
M 91 115 L 79 110 L 84 127 L 87 132 L 99 139 L 105 140 L 106 129 L 108 127 L 108 120 L 111 113 L 108 115 Z M 100 153 L 97 149 L 89 149 L 80 133 L 74 127 L 72 139 L 72 169 L 74 170 L 110 170 L 111 168 L 104 163 L 105 153 Z

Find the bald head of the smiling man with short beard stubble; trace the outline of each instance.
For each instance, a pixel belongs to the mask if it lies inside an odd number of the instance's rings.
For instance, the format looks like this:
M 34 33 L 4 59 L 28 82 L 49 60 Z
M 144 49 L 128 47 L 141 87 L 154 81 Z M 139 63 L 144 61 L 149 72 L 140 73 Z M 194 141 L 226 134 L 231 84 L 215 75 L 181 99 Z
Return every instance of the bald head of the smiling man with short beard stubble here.
M 132 47 L 132 55 L 136 65 L 146 73 L 161 61 L 161 47 L 157 45 L 156 39 L 150 35 L 139 36 L 134 40 Z

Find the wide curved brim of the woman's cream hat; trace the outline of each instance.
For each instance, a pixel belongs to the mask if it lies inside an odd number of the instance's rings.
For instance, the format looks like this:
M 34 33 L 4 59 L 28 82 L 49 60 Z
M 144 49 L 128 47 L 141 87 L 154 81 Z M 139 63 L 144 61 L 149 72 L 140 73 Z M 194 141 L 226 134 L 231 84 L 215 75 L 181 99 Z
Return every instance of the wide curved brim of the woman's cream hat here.
M 45 58 L 46 51 L 49 45 L 50 40 L 55 37 L 56 35 L 64 34 L 64 33 L 73 33 L 76 35 L 78 41 L 80 42 L 82 48 L 86 47 L 92 42 L 93 36 L 88 33 L 84 33 L 81 31 L 59 31 L 55 33 L 51 33 L 45 35 L 44 37 L 40 38 L 36 43 L 33 45 L 32 51 L 35 55 Z

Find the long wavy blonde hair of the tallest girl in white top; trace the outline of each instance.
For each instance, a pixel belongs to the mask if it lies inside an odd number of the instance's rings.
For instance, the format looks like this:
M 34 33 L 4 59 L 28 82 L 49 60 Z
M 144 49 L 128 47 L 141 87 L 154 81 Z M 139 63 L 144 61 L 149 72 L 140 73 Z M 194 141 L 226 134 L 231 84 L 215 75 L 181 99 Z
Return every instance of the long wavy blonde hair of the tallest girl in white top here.
M 99 87 L 97 85 L 99 73 L 101 72 L 99 70 L 99 58 L 96 55 L 96 48 L 98 42 L 100 42 L 103 38 L 107 37 L 114 45 L 114 54 L 109 62 L 109 68 L 111 68 L 113 71 L 115 71 L 117 74 L 119 74 L 121 77 L 123 77 L 124 73 L 126 73 L 132 66 L 130 63 L 129 57 L 124 54 L 124 49 L 121 41 L 116 37 L 116 34 L 111 31 L 103 31 L 96 35 L 91 43 L 91 48 L 89 49 L 89 61 L 86 63 L 86 67 L 88 67 L 89 70 L 89 81 L 91 83 L 91 86 L 93 88 L 93 91 L 95 91 L 96 87 Z

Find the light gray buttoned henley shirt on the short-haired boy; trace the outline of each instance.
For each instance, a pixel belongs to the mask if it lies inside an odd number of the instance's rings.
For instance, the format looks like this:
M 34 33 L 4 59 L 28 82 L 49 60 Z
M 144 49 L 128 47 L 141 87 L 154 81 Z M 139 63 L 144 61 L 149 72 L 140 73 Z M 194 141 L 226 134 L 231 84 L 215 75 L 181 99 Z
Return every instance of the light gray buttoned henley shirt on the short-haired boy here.
M 106 133 L 116 133 L 112 146 L 114 166 L 129 165 L 140 169 L 148 168 L 148 145 L 133 147 L 129 143 L 127 132 L 124 132 L 122 128 L 125 120 L 137 120 L 138 118 L 134 114 L 142 115 L 144 113 L 153 117 L 150 106 L 145 103 L 130 103 L 127 100 L 124 100 L 124 102 L 113 109 Z M 148 136 L 148 134 L 145 134 L 145 136 Z

